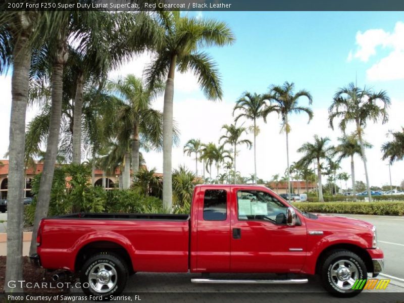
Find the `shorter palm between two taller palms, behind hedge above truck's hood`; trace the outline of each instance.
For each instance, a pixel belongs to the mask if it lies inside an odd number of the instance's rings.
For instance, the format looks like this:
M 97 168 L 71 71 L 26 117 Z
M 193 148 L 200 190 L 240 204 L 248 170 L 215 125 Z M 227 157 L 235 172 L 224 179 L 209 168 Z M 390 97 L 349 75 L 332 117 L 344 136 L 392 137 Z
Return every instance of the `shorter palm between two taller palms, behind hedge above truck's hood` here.
M 314 135 L 314 143 L 306 142 L 297 149 L 298 153 L 304 153 L 304 156 L 298 161 L 299 166 L 306 166 L 316 161 L 317 163 L 317 177 L 319 182 L 319 201 L 324 202 L 323 198 L 323 186 L 321 183 L 321 159 L 330 159 L 332 156 L 334 147 L 327 146 L 330 139 L 328 137 L 319 137 Z

